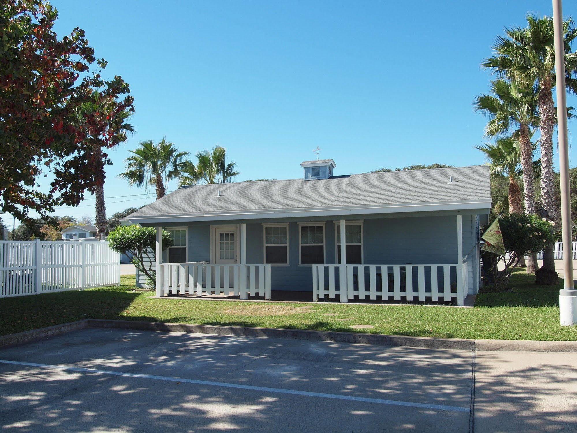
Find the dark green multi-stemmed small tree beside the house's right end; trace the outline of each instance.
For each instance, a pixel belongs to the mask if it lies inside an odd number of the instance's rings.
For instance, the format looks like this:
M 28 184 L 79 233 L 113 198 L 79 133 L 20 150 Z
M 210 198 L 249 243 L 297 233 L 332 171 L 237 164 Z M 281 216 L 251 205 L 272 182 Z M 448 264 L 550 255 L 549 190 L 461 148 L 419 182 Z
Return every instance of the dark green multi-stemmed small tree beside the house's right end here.
M 488 276 L 492 279 L 494 288 L 504 290 L 511 277 L 512 265 L 520 257 L 529 253 L 541 251 L 548 242 L 554 241 L 551 223 L 539 219 L 537 215 L 509 214 L 499 219 L 501 236 L 505 245 L 505 255 L 497 255 L 484 251 L 484 255 L 492 257 Z M 499 262 L 503 262 L 504 269 L 499 271 Z

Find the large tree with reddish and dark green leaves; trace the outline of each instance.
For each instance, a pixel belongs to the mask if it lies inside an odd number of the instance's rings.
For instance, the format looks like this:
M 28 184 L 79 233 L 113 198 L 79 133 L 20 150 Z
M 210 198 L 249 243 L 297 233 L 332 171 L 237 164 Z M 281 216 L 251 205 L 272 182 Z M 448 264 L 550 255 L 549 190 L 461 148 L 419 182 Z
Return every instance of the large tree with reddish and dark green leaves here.
M 57 18 L 44 0 L 0 5 L 0 208 L 25 223 L 35 210 L 57 225 L 55 206 L 77 206 L 103 185 L 103 149 L 126 140 L 134 111 L 129 85 L 103 79 L 106 61 L 83 30 L 59 39 Z

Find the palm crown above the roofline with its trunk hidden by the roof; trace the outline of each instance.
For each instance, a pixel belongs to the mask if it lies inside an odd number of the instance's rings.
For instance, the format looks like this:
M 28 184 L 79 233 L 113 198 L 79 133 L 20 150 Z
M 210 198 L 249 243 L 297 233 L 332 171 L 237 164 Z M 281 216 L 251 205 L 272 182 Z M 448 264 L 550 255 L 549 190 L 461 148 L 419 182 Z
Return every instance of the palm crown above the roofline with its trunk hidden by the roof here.
M 226 162 L 226 149 L 216 146 L 211 151 L 198 152 L 197 163 L 188 161 L 182 170 L 180 185 L 226 184 L 239 172 L 234 162 Z

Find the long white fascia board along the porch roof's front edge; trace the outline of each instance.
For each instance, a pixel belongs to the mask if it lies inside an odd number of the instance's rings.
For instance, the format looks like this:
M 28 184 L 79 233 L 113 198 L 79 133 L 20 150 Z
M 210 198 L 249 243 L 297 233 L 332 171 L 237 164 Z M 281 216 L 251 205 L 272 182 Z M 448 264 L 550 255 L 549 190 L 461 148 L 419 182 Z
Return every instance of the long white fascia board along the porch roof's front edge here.
M 307 216 L 335 216 L 335 215 L 362 215 L 362 214 L 396 214 L 400 212 L 425 211 L 459 211 L 477 210 L 479 214 L 488 214 L 490 201 L 466 201 L 451 203 L 414 203 L 414 204 L 385 204 L 376 206 L 329 207 L 320 209 L 293 209 L 269 211 L 244 211 L 205 213 L 198 215 L 163 215 L 163 216 L 132 216 L 130 222 L 137 223 L 176 223 L 191 221 L 226 221 L 230 219 L 263 219 L 263 218 L 305 218 Z

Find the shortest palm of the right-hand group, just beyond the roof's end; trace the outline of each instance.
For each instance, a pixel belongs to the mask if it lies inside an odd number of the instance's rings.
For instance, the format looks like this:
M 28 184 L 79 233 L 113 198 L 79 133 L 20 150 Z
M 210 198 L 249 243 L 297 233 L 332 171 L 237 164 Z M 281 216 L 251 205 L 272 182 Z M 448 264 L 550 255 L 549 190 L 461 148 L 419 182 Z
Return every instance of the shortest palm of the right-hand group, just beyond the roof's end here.
M 495 143 L 476 145 L 475 148 L 483 152 L 488 160 L 493 176 L 509 178 L 508 211 L 509 213 L 523 212 L 523 199 L 518 180 L 522 176 L 521 154 L 518 140 L 514 137 L 498 138 Z M 533 143 L 533 150 L 537 150 L 537 143 Z

